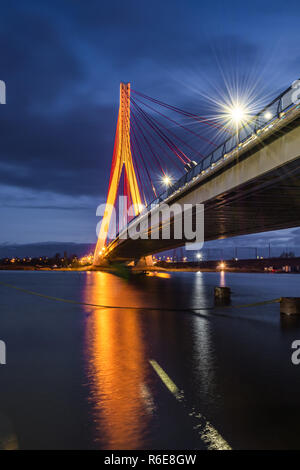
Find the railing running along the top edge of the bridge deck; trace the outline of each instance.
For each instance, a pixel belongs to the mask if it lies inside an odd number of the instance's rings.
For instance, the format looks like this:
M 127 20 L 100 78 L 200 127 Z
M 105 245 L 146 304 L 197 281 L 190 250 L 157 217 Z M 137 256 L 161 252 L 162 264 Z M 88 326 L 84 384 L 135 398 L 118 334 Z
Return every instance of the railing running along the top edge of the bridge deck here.
M 293 101 L 294 91 L 295 89 L 289 87 L 287 90 L 281 93 L 271 103 L 265 106 L 259 113 L 253 116 L 251 120 L 249 120 L 249 122 L 247 122 L 243 127 L 239 128 L 234 135 L 225 140 L 225 142 L 223 142 L 207 157 L 201 160 L 192 170 L 185 173 L 166 191 L 164 191 L 150 204 L 148 204 L 143 213 L 149 212 L 153 205 L 160 204 L 169 196 L 171 196 L 175 191 L 183 188 L 187 183 L 192 181 L 202 172 L 206 172 L 208 169 L 220 163 L 226 157 L 226 154 L 233 151 L 235 148 L 243 144 L 246 140 L 250 139 L 253 136 L 259 135 L 263 129 L 268 127 L 270 128 L 272 126 L 273 121 L 275 121 L 276 119 L 284 119 L 285 113 L 292 107 L 295 107 L 295 103 Z M 298 105 L 297 107 L 300 107 L 300 105 Z M 140 215 L 134 217 L 127 225 L 127 228 L 130 227 L 130 225 L 134 223 L 134 221 Z

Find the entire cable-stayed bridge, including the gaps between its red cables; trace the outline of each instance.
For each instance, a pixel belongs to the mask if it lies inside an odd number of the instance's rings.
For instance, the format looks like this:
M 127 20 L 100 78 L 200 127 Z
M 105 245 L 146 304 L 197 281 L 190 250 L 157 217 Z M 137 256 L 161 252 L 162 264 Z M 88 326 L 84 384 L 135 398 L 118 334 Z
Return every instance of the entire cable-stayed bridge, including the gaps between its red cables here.
M 163 204 L 204 204 L 205 240 L 300 225 L 300 105 L 294 96 L 290 87 L 255 116 L 230 126 L 122 83 L 94 264 L 139 260 L 185 244 L 184 235 L 161 237 L 166 224 L 173 233 L 176 215 L 151 226 L 150 215 Z M 144 236 L 124 236 L 141 227 L 148 227 Z

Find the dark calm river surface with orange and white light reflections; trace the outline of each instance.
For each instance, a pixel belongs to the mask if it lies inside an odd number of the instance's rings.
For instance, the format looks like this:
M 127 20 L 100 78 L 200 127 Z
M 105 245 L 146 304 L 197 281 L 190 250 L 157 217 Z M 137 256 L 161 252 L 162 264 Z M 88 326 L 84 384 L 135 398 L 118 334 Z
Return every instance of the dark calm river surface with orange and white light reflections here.
M 221 277 L 221 278 L 220 278 Z M 0 442 L 21 449 L 205 448 L 155 360 L 235 449 L 300 448 L 297 318 L 278 304 L 299 296 L 292 274 L 172 273 L 130 280 L 94 272 L 0 272 L 0 281 L 81 302 L 59 303 L 0 286 Z M 169 310 L 145 310 L 146 307 Z M 200 315 L 183 311 L 204 308 Z M 143 310 L 144 308 L 144 310 Z M 182 310 L 181 310 L 182 309 Z

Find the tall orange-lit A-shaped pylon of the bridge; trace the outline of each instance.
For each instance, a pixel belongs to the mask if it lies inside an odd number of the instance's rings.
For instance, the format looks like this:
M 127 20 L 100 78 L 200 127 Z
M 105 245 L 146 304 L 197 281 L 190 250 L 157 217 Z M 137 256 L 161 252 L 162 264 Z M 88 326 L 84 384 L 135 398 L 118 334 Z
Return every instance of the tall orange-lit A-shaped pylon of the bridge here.
M 94 264 L 101 264 L 101 257 L 107 241 L 107 234 L 116 202 L 118 186 L 122 171 L 128 182 L 128 188 L 132 203 L 134 205 L 135 215 L 137 215 L 142 207 L 140 191 L 137 178 L 134 171 L 131 148 L 130 148 L 130 83 L 120 84 L 120 104 L 117 122 L 117 130 L 115 136 L 115 144 L 113 151 L 112 166 L 110 172 L 110 180 L 108 187 L 108 195 L 106 199 L 105 214 L 103 216 L 98 241 L 94 253 Z

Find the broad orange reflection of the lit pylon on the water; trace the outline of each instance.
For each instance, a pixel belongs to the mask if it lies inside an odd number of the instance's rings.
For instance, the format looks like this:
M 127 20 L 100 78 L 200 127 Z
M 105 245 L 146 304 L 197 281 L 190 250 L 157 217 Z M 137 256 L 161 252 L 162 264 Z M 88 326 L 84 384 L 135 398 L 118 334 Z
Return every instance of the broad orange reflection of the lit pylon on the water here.
M 133 286 L 102 272 L 86 276 L 84 298 L 93 304 L 143 306 Z M 86 310 L 85 353 L 95 440 L 107 449 L 141 448 L 149 419 L 141 313 L 132 309 Z

